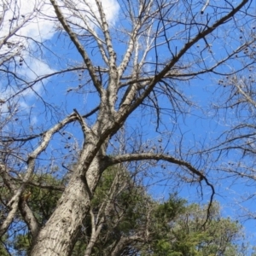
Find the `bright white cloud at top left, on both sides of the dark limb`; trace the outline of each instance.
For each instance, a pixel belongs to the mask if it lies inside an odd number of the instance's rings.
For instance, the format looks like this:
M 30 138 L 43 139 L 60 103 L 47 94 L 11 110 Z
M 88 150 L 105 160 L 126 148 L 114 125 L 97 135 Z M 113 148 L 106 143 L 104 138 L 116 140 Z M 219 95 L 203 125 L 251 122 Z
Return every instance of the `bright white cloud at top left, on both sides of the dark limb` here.
M 2 25 L 0 26 L 0 64 L 1 60 L 3 61 L 4 58 L 8 56 L 20 55 L 20 57 L 17 58 L 17 61 L 19 61 L 19 59 L 23 59 L 24 62 L 26 62 L 26 65 L 15 69 L 15 72 L 24 77 L 27 81 L 32 81 L 39 76 L 55 72 L 55 70 L 49 66 L 50 64 L 46 64 L 44 60 L 40 59 L 40 57 L 35 58 L 30 55 L 32 51 L 37 49 L 36 43 L 34 43 L 33 40 L 40 44 L 44 43 L 45 40 L 50 40 L 55 35 L 55 11 L 49 3 L 49 0 L 3 1 L 3 4 L 0 3 L 0 13 L 3 14 L 1 17 Z M 60 6 L 63 6 L 63 2 L 79 7 L 79 9 L 83 10 L 80 13 L 83 13 L 86 17 L 89 17 L 90 10 L 95 13 L 96 18 L 99 17 L 94 0 L 64 0 L 59 2 Z M 102 7 L 106 14 L 108 23 L 113 25 L 118 17 L 119 3 L 116 0 L 104 0 L 102 1 Z M 72 12 L 67 8 L 62 8 L 62 10 L 65 12 L 66 16 L 69 16 L 68 20 L 79 22 L 81 24 L 84 22 L 82 16 L 73 16 Z M 85 20 L 88 21 L 88 19 Z M 96 26 L 94 26 L 91 21 L 89 22 L 90 26 L 96 30 Z M 19 26 L 21 26 L 20 29 L 15 31 Z M 9 33 L 14 31 L 15 35 L 9 37 Z M 3 44 L 4 40 L 7 44 Z M 14 87 L 11 87 L 14 86 L 13 84 L 10 84 L 9 88 L 5 87 L 4 90 L 3 84 L 4 82 L 1 83 L 0 81 L 0 91 L 4 91 L 1 98 L 9 97 L 15 93 L 16 90 L 14 90 Z M 40 92 L 40 90 L 42 90 L 41 86 L 41 84 L 35 84 L 33 90 Z M 20 96 L 26 96 L 28 99 L 33 95 L 34 93 L 32 90 L 25 90 L 20 94 Z

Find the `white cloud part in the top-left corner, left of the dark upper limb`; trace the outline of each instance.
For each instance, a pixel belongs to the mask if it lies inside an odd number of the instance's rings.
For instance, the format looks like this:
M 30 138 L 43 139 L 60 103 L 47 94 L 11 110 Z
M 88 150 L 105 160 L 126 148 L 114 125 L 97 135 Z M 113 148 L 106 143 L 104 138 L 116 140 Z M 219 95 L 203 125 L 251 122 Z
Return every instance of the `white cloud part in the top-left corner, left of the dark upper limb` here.
M 36 46 L 33 40 L 40 44 L 52 38 L 55 33 L 54 20 L 45 19 L 45 14 L 54 15 L 53 8 L 44 1 L 5 0 L 2 5 L 0 3 L 0 13 L 3 14 L 0 27 L 0 63 L 14 56 L 18 63 L 19 60 L 25 61 L 27 65 L 23 65 L 22 68 L 14 68 L 15 65 L 10 65 L 9 68 L 13 67 L 15 73 L 23 76 L 27 81 L 53 72 L 54 70 L 44 61 L 30 56 L 30 52 Z M 14 64 L 14 61 L 12 63 Z M 2 86 L 0 85 L 2 91 L 3 84 L 4 81 Z M 14 84 L 9 84 L 9 88 L 4 88 L 2 96 L 4 94 L 9 97 L 14 93 L 13 86 Z M 30 95 L 29 90 L 25 93 Z M 25 95 L 23 93 L 20 96 Z

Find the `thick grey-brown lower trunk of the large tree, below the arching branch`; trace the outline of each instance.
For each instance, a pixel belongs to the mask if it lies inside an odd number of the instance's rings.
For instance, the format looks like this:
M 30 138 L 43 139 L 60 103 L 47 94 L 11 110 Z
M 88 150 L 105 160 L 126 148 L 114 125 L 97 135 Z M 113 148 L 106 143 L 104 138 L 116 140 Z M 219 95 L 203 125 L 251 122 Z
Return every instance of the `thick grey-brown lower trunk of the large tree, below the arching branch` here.
M 80 169 L 67 185 L 67 189 L 44 228 L 34 241 L 32 252 L 34 256 L 70 255 L 79 233 L 79 228 L 90 210 L 90 201 L 101 174 L 100 161 L 93 160 L 86 172 L 86 179 Z M 88 182 L 87 182 L 88 181 Z

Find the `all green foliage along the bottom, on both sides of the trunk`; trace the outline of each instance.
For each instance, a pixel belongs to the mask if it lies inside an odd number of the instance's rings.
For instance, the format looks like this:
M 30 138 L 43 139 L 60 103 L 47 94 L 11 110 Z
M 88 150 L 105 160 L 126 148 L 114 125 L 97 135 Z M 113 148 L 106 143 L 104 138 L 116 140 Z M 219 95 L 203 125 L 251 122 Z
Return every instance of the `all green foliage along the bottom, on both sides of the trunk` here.
M 32 195 L 27 202 L 38 222 L 43 225 L 61 196 L 61 191 L 51 187 L 61 187 L 63 182 L 49 175 L 34 177 L 34 180 L 44 189 L 28 186 L 27 190 Z M 236 240 L 241 239 L 241 225 L 230 218 L 221 218 L 219 212 L 218 204 L 214 203 L 209 221 L 203 225 L 207 217 L 207 206 L 189 205 L 177 195 L 170 195 L 163 202 L 154 201 L 143 187 L 132 181 L 129 172 L 120 171 L 117 167 L 111 168 L 103 173 L 91 203 L 91 214 L 97 219 L 103 219 L 101 233 L 91 255 L 108 255 L 121 238 L 134 235 L 142 239 L 131 239 L 122 248 L 120 255 L 239 255 L 240 248 Z M 17 216 L 16 221 L 22 223 L 20 216 Z M 86 229 L 80 230 L 73 248 L 75 256 L 84 255 L 92 234 L 91 221 L 91 215 L 84 219 Z M 145 230 L 148 232 L 147 237 Z M 24 230 L 15 237 L 5 237 L 4 244 L 17 255 L 26 255 L 31 247 L 30 233 Z M 9 255 L 3 246 L 0 247 L 0 255 Z

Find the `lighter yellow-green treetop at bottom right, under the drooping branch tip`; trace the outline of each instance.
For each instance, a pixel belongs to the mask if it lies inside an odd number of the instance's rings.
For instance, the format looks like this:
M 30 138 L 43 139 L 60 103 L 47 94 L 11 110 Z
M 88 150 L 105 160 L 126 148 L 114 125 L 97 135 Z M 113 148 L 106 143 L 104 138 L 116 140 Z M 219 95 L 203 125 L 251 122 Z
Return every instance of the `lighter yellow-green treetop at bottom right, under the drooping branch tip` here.
M 165 205 L 161 204 L 160 210 Z M 164 208 L 170 211 L 168 207 Z M 157 231 L 158 239 L 153 243 L 152 255 L 238 255 L 236 239 L 241 238 L 241 226 L 230 218 L 220 218 L 217 203 L 212 206 L 207 224 L 203 225 L 206 216 L 207 206 L 183 204 L 176 215 L 162 218 L 162 225 L 168 228 L 166 232 L 163 228 Z

